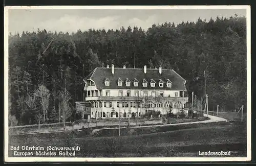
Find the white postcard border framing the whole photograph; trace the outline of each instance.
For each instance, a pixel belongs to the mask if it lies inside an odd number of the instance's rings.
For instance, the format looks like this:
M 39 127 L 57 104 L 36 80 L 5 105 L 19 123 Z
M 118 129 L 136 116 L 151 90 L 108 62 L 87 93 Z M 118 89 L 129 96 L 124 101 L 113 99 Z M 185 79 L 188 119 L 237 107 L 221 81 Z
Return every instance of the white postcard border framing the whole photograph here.
M 8 157 L 8 10 L 9 9 L 246 9 L 247 38 L 247 157 L 125 157 L 65 158 Z M 250 6 L 6 6 L 4 8 L 4 160 L 5 162 L 161 162 L 161 161 L 250 161 L 251 160 L 251 12 Z

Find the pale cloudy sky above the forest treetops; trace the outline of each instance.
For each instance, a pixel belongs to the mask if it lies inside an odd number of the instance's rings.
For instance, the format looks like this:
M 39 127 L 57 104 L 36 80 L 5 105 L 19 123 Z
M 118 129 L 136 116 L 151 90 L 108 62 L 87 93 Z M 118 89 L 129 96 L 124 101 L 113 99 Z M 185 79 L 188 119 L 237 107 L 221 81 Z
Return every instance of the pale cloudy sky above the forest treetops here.
M 89 29 L 125 29 L 129 26 L 144 30 L 167 22 L 196 22 L 217 16 L 246 16 L 246 9 L 9 9 L 9 33 L 37 31 L 76 32 Z

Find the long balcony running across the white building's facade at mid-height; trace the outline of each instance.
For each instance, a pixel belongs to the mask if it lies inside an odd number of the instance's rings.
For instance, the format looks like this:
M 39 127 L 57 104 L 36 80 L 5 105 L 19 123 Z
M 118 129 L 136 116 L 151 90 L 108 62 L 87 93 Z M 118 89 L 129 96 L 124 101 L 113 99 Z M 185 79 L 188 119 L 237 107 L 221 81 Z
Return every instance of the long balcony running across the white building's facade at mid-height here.
M 188 97 L 111 97 L 111 96 L 99 96 L 99 97 L 87 97 L 86 101 L 158 101 L 158 102 L 167 102 L 170 101 L 172 103 L 188 102 Z

